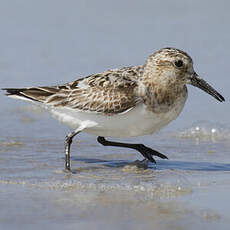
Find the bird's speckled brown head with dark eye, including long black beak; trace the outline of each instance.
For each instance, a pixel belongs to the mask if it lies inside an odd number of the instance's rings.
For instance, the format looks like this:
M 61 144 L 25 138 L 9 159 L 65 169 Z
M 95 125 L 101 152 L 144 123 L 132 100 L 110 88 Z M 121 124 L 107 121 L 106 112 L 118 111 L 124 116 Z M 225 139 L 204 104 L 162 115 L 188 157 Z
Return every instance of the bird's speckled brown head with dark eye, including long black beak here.
M 184 86 L 191 84 L 210 94 L 218 101 L 224 101 L 212 86 L 203 80 L 193 69 L 192 58 L 182 50 L 163 48 L 152 54 L 145 64 L 145 71 L 159 77 L 160 81 L 174 82 Z

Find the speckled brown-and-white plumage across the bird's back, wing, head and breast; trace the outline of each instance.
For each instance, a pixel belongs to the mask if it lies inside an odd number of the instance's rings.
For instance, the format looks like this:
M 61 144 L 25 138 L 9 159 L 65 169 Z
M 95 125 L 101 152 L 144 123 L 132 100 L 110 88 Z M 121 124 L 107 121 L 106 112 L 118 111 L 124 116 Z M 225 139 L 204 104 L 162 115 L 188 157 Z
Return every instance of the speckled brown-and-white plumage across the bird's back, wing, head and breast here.
M 61 86 L 23 88 L 18 96 L 53 107 L 104 115 L 122 113 L 141 102 L 148 110 L 164 112 L 170 109 L 178 96 L 182 94 L 185 97 L 187 93 L 186 86 L 178 84 L 183 76 L 165 78 L 167 81 L 162 84 L 162 75 L 172 68 L 170 61 L 174 58 L 192 63 L 185 52 L 165 48 L 152 54 L 143 66 L 112 69 Z M 183 70 L 177 74 L 183 75 Z

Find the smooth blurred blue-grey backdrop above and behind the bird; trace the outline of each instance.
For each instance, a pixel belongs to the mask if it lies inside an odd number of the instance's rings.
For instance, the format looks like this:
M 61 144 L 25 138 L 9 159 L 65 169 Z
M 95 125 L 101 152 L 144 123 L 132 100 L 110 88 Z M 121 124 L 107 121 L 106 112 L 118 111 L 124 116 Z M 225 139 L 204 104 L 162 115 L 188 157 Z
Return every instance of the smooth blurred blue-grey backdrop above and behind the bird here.
M 228 122 L 230 2 L 0 1 L 0 85 L 54 85 L 111 68 L 143 64 L 163 47 L 183 49 L 197 73 L 226 98 L 218 103 L 189 86 L 170 127 Z M 0 98 L 2 106 L 18 102 Z M 20 103 L 20 102 L 19 102 Z

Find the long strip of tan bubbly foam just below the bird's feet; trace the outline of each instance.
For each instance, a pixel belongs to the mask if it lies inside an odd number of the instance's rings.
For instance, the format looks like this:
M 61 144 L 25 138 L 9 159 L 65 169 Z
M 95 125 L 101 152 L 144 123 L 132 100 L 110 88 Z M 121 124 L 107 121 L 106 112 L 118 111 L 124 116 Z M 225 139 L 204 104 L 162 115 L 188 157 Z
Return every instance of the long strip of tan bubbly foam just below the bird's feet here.
M 76 174 L 66 174 L 55 170 L 52 178 L 31 178 L 28 173 L 20 176 L 1 177 L 0 184 L 23 185 L 42 190 L 74 191 L 87 194 L 120 193 L 151 200 L 163 197 L 177 197 L 192 192 L 190 183 L 181 173 L 174 172 L 171 177 L 167 171 L 153 171 L 127 166 L 110 168 L 104 166 L 81 167 Z

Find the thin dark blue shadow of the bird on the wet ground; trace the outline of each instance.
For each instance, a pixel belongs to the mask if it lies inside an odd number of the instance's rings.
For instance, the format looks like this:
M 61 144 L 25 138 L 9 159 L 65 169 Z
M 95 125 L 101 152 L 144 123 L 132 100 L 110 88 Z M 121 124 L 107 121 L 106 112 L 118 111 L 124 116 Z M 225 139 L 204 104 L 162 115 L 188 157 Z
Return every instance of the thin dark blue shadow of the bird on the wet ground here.
M 128 160 L 102 160 L 98 158 L 81 158 L 72 157 L 72 161 L 84 162 L 92 164 L 93 168 L 110 167 L 110 168 L 122 168 L 127 165 L 136 165 L 140 168 L 143 164 L 140 161 L 128 161 Z M 149 169 L 153 170 L 184 170 L 184 171 L 230 171 L 230 163 L 213 163 L 213 162 L 192 162 L 192 161 L 173 161 L 173 160 L 157 160 L 156 164 L 148 163 Z

